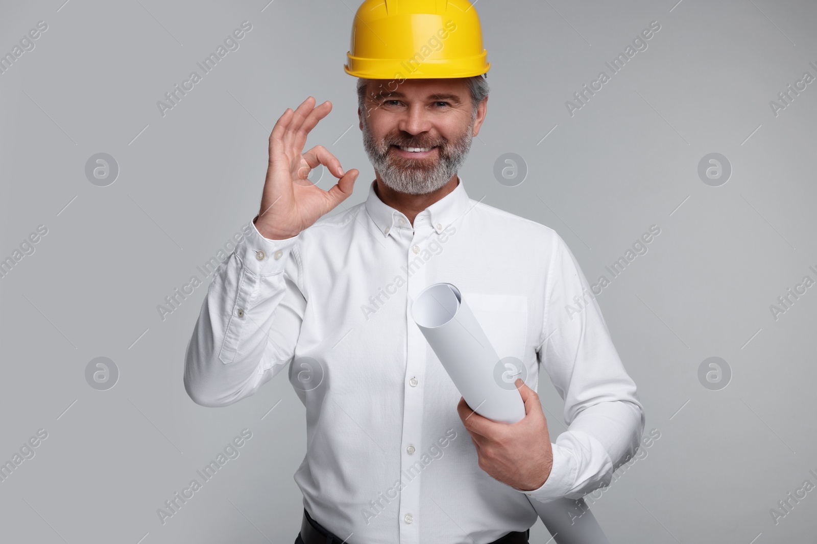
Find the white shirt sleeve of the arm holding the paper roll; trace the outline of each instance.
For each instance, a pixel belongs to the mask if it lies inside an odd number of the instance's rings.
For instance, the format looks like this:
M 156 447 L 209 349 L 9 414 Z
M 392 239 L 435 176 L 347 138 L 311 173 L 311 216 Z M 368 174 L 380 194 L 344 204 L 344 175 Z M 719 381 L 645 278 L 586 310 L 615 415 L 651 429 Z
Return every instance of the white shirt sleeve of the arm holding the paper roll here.
M 636 453 L 645 426 L 636 384 L 618 357 L 596 294 L 565 241 L 554 237 L 538 356 L 565 400 L 569 427 L 551 444 L 545 483 L 517 489 L 540 502 L 578 499 L 609 485 L 613 471 Z

